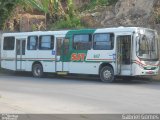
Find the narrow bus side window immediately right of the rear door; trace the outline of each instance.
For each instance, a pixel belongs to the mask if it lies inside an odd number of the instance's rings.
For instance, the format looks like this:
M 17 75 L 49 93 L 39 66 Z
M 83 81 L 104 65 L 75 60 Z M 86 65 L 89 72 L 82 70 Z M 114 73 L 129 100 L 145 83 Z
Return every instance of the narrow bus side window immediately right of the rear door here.
M 37 36 L 29 36 L 27 49 L 28 50 L 36 50 L 38 45 L 38 37 Z

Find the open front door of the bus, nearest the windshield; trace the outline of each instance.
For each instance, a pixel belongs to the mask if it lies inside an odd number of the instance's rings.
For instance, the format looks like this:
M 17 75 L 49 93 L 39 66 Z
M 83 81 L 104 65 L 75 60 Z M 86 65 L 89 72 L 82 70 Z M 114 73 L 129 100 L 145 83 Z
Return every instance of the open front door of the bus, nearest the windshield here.
M 132 36 L 118 35 L 116 46 L 117 75 L 129 76 L 132 74 Z

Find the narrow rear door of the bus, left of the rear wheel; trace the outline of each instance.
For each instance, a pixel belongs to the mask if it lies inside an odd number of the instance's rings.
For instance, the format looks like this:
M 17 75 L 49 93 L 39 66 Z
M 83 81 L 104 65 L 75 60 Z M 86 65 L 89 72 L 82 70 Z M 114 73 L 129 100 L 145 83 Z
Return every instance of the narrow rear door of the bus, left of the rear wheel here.
M 23 58 L 25 55 L 26 39 L 16 39 L 16 70 L 24 71 Z

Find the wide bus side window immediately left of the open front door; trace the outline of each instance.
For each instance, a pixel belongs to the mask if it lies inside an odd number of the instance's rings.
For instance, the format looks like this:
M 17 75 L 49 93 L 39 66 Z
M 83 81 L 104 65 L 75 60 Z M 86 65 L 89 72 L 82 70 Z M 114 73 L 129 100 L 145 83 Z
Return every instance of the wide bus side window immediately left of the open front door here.
M 114 47 L 114 34 L 100 33 L 94 35 L 94 50 L 112 50 Z

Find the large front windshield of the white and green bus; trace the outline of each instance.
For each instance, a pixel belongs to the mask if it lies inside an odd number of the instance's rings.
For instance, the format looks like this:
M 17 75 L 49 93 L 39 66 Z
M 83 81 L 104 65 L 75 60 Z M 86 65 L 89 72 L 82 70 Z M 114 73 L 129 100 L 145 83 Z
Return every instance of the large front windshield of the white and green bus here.
M 158 60 L 158 37 L 154 31 L 139 34 L 137 43 L 137 56 L 141 60 Z

